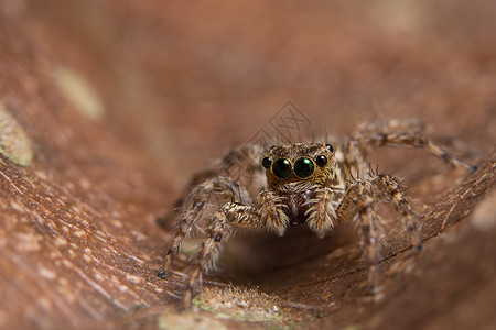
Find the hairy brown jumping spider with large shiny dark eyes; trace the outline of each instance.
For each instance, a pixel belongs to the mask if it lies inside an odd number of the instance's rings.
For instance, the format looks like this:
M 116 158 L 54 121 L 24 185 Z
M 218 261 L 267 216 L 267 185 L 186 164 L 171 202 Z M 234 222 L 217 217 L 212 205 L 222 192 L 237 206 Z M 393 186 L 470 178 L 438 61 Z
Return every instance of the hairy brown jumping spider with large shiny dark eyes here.
M 343 140 L 268 147 L 246 144 L 233 150 L 193 176 L 187 197 L 179 202 L 177 229 L 158 276 L 166 277 L 182 240 L 205 218 L 208 201 L 215 195 L 223 202 L 206 218 L 206 237 L 186 276 L 183 309 L 192 308 L 202 275 L 212 267 L 231 228 L 267 229 L 283 235 L 289 226 L 306 224 L 323 238 L 337 224 L 355 222 L 374 292 L 381 238 L 375 205 L 384 200 L 392 204 L 414 249 L 421 250 L 422 238 L 399 178 L 371 170 L 367 153 L 380 146 L 423 147 L 454 167 L 476 169 L 450 156 L 422 131 L 423 124 L 418 120 L 382 120 L 362 124 Z M 245 182 L 226 174 L 236 163 L 246 168 Z

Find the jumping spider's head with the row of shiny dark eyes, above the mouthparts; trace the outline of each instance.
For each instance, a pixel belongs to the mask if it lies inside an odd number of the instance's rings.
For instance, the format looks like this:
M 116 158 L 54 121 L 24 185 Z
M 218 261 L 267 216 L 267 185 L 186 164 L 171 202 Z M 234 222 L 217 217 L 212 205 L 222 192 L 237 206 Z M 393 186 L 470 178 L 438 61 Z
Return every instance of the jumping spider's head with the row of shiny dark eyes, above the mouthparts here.
M 336 160 L 331 144 L 277 144 L 261 156 L 269 187 L 288 183 L 323 186 L 334 177 Z

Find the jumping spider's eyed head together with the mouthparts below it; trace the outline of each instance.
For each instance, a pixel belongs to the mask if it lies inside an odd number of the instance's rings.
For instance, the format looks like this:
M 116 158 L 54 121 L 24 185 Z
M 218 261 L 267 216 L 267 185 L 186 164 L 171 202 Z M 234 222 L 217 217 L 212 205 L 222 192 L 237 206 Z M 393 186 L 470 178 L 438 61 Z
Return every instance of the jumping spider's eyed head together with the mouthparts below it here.
M 270 198 L 279 201 L 276 209 L 280 210 L 279 217 L 261 215 L 268 220 L 267 228 L 282 235 L 288 223 L 309 222 L 309 227 L 322 235 L 333 226 L 328 217 L 321 219 L 321 223 L 312 222 L 319 219 L 313 207 L 317 193 L 327 187 L 338 194 L 345 188 L 331 144 L 278 144 L 262 155 L 261 164 L 266 168 L 267 194 L 260 195 L 260 204 L 267 205 L 265 197 L 274 194 L 277 197 Z M 273 218 L 277 221 L 271 223 Z

